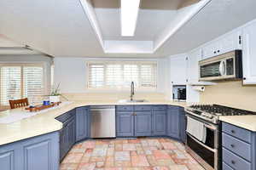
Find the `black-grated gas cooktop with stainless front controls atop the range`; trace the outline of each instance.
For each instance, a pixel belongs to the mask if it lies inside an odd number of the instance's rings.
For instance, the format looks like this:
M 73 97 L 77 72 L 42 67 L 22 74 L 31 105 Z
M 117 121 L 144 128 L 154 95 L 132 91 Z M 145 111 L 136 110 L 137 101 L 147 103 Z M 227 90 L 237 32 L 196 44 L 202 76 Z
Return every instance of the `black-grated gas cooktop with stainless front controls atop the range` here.
M 200 117 L 208 122 L 217 124 L 219 116 L 255 115 L 253 111 L 244 111 L 224 105 L 190 105 L 185 109 L 188 114 Z

